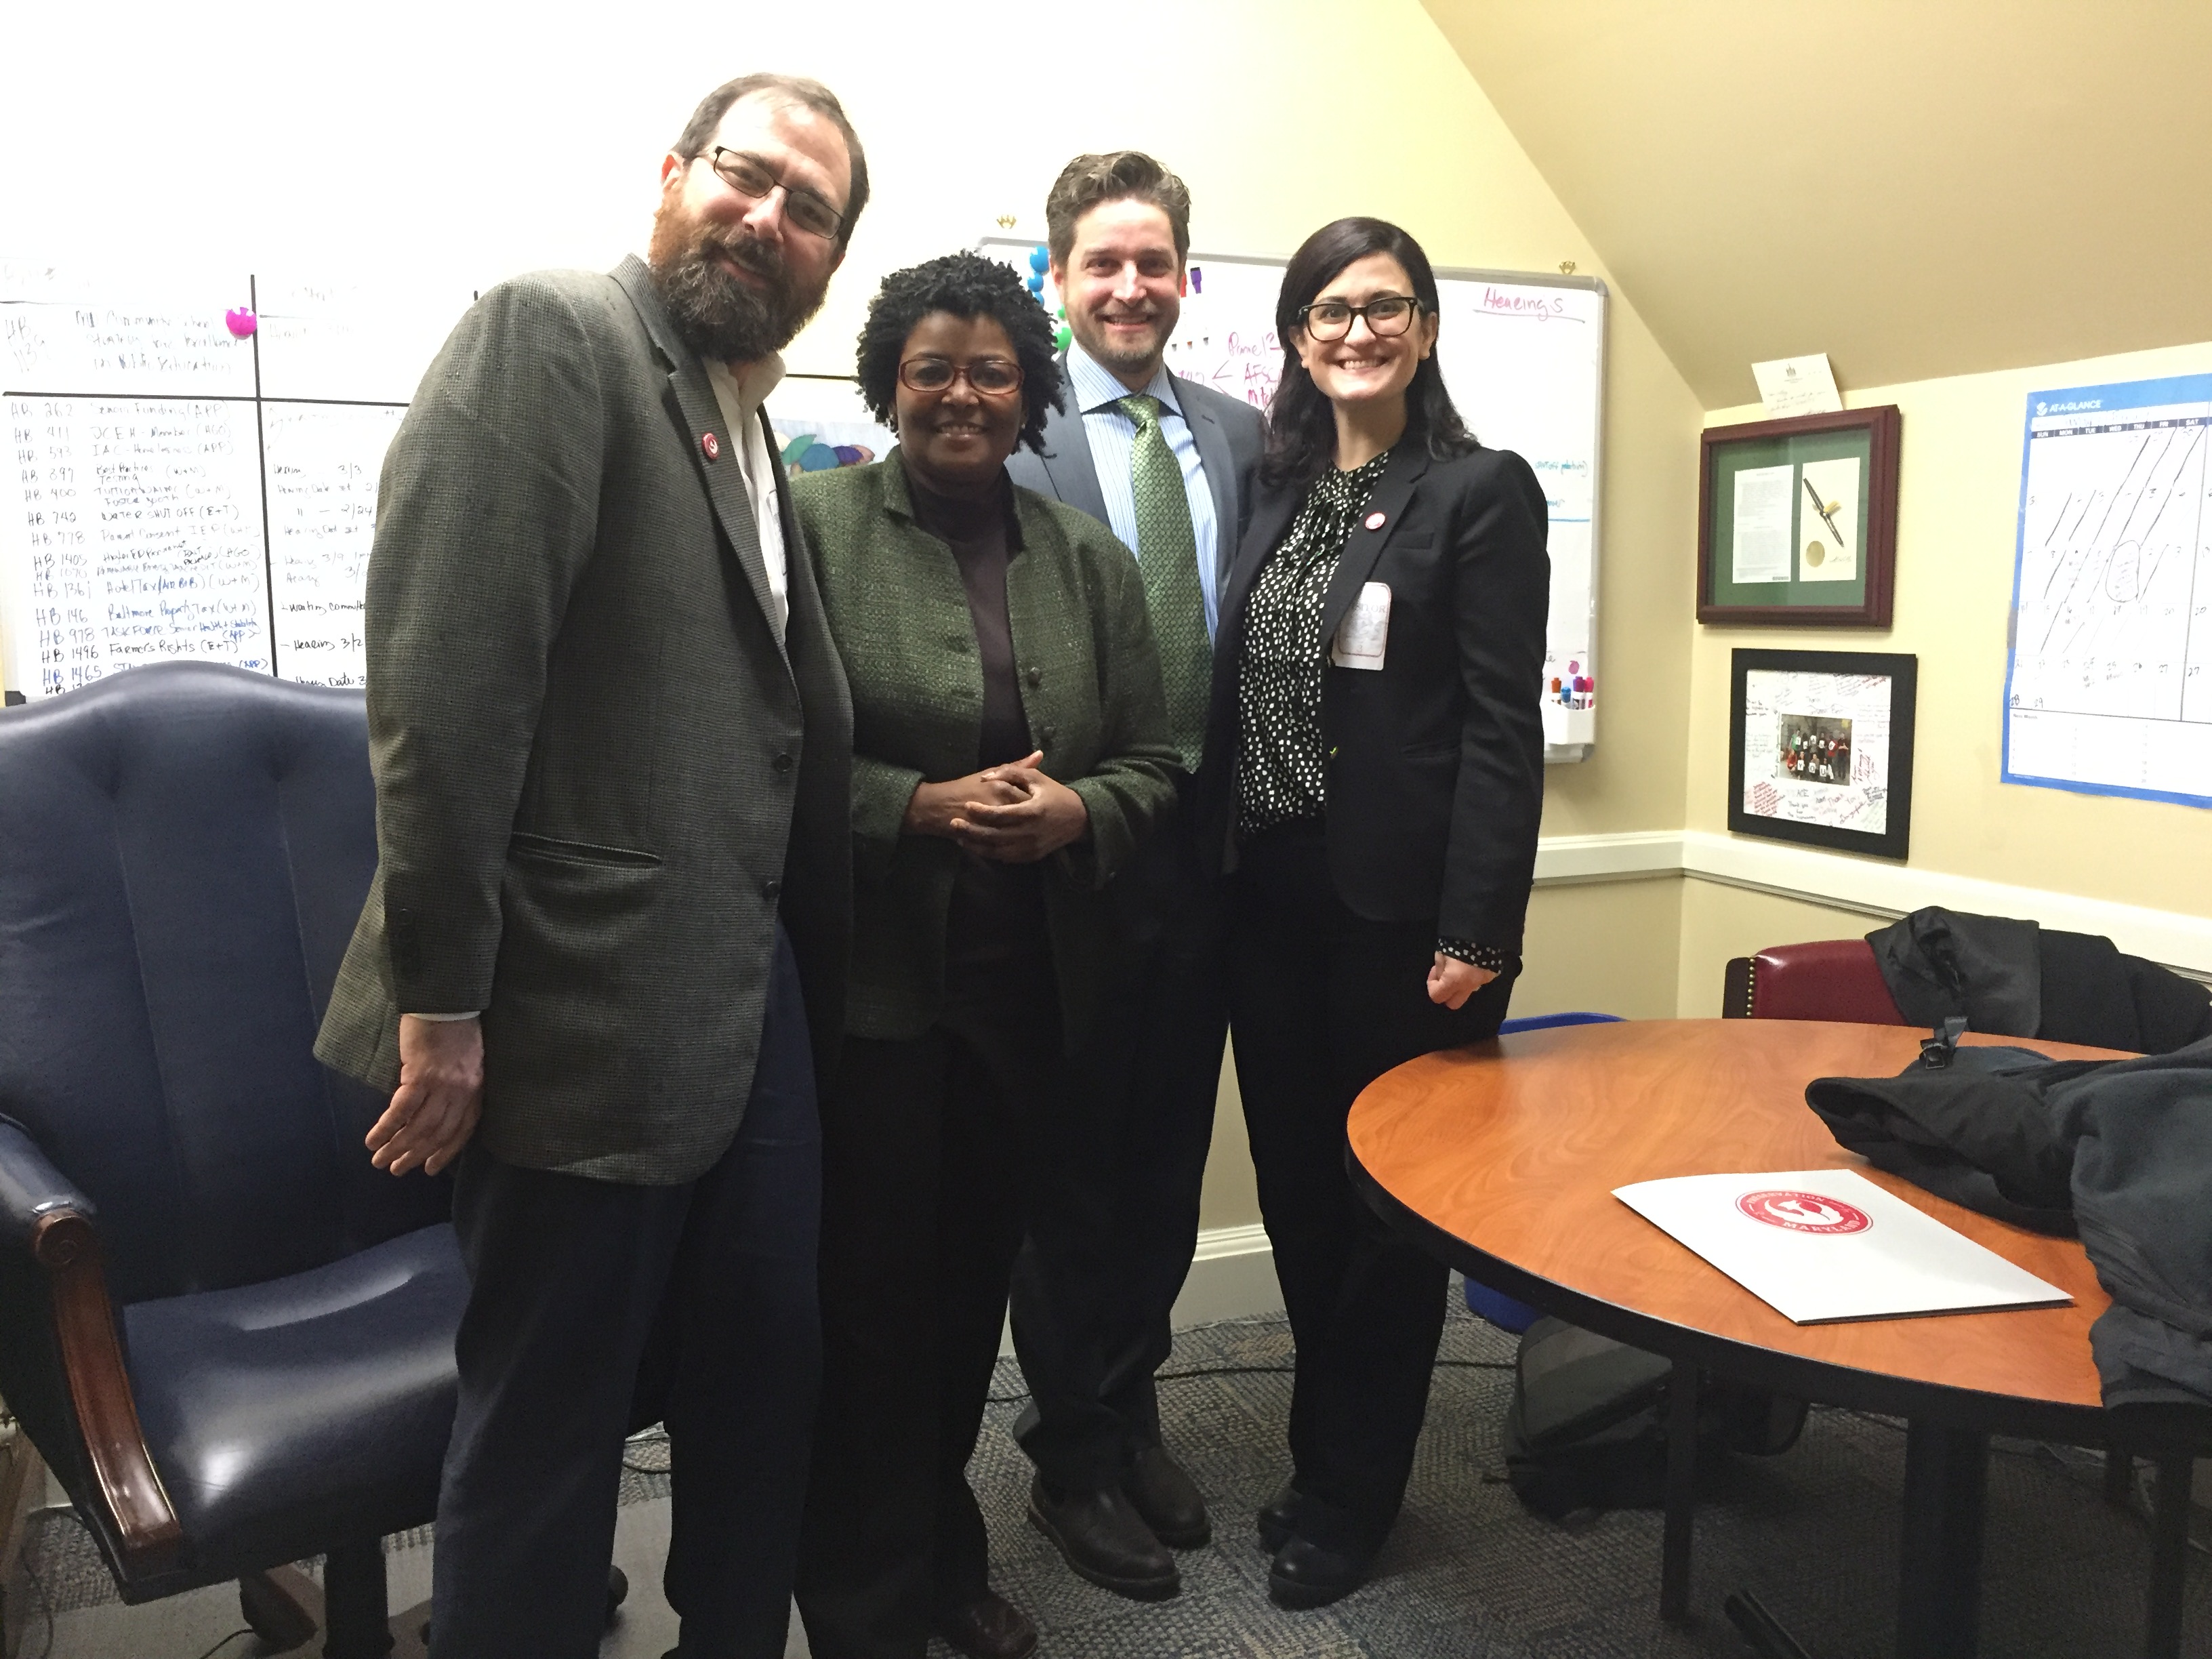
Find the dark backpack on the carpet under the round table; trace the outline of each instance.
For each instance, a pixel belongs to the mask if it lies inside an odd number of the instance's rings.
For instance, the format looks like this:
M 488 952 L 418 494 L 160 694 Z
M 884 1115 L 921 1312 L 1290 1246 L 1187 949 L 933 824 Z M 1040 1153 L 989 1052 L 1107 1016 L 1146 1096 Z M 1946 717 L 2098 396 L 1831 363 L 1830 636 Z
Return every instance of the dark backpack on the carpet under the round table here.
M 1666 1502 L 1666 1391 L 1672 1360 L 1564 1318 L 1522 1334 L 1506 1407 L 1506 1480 L 1546 1520 L 1588 1509 Z M 1723 1453 L 1772 1458 L 1805 1427 L 1805 1402 L 1767 1389 L 1699 1380 L 1699 1484 Z

